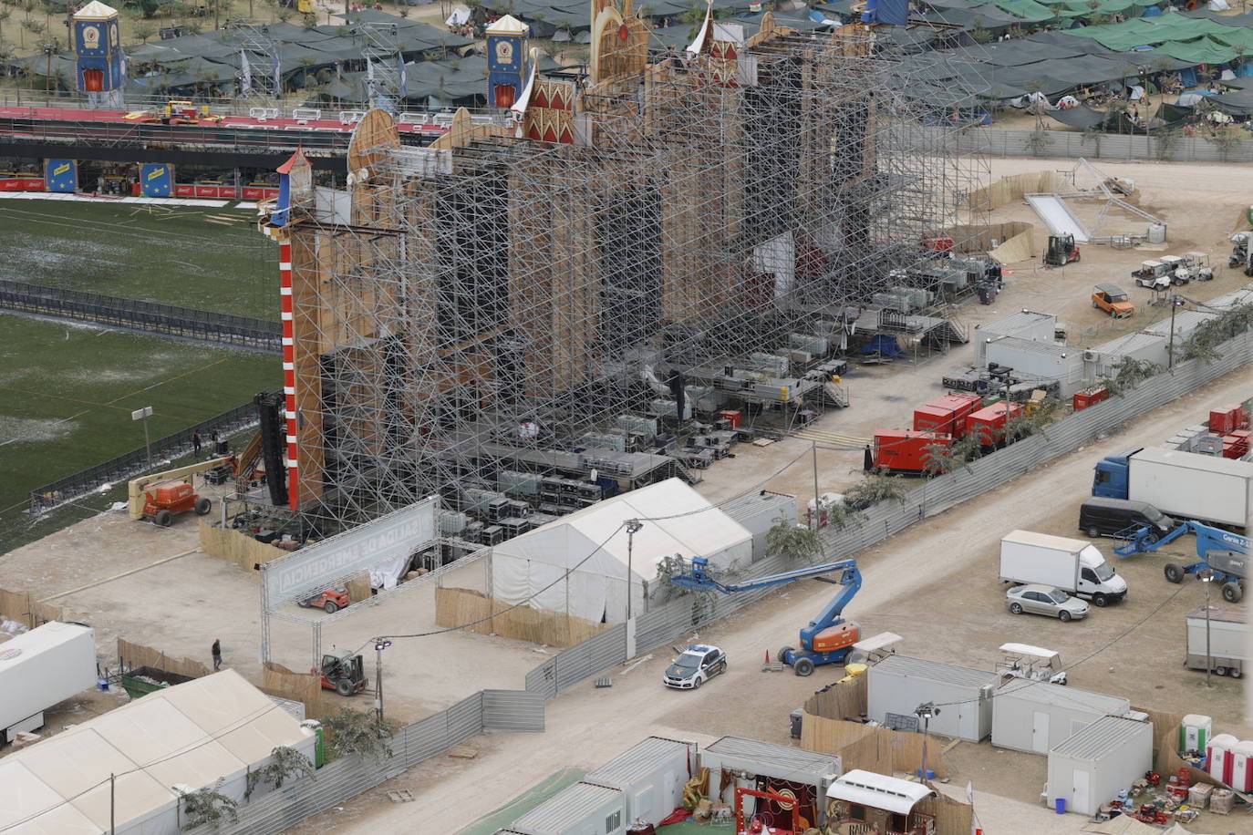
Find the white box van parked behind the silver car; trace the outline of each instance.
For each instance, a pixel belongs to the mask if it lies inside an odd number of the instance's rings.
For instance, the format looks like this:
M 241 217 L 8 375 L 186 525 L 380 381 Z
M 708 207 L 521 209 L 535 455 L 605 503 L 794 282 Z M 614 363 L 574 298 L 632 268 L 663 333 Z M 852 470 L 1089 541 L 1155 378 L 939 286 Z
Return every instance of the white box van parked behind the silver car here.
M 1010 531 L 1001 538 L 1001 581 L 1054 586 L 1106 606 L 1126 596 L 1126 581 L 1091 542 Z

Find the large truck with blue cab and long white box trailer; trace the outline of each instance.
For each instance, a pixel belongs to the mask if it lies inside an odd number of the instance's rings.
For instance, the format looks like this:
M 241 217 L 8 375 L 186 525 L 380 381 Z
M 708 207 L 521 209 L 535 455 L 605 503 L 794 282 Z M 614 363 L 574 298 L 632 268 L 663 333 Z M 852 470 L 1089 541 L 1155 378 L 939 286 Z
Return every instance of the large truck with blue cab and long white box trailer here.
M 1096 464 L 1093 496 L 1148 502 L 1177 520 L 1247 528 L 1253 462 L 1148 447 Z

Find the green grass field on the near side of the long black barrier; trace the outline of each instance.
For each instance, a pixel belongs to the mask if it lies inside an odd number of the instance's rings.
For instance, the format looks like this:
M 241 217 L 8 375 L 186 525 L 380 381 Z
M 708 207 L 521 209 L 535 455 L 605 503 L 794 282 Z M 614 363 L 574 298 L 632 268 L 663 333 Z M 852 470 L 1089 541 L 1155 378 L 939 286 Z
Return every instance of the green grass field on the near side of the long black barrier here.
M 0 553 L 34 538 L 21 513 L 33 488 L 144 446 L 133 409 L 153 407 L 157 439 L 278 388 L 281 368 L 271 354 L 0 313 Z

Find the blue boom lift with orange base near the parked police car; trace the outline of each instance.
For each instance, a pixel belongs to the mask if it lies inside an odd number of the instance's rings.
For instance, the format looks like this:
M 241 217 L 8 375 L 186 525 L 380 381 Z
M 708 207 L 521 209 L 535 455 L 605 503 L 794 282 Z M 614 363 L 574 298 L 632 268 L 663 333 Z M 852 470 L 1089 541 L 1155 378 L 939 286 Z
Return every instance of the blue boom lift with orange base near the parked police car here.
M 827 580 L 821 575 L 840 573 L 838 580 Z M 843 663 L 852 652 L 853 643 L 861 636 L 861 627 L 853 621 L 846 621 L 841 615 L 848 601 L 861 590 L 861 572 L 856 560 L 841 560 L 821 566 L 808 566 L 796 571 L 758 577 L 742 583 L 724 583 L 709 573 L 709 561 L 704 557 L 692 557 L 692 571 L 670 578 L 675 586 L 697 591 L 720 591 L 733 595 L 753 588 L 782 586 L 797 580 L 813 577 L 840 586 L 840 592 L 831 598 L 827 607 L 809 625 L 801 630 L 801 648 L 786 646 L 779 650 L 778 660 L 792 665 L 798 676 L 807 676 L 819 663 Z

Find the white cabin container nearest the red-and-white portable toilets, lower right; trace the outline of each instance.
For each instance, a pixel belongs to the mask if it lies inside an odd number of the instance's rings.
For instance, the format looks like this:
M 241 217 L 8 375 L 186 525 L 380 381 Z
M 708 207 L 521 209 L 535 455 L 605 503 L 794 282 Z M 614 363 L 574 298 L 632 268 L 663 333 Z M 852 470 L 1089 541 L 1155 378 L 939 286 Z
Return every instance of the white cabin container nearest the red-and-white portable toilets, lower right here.
M 1095 815 L 1153 767 L 1153 724 L 1104 716 L 1049 751 L 1049 804 Z

